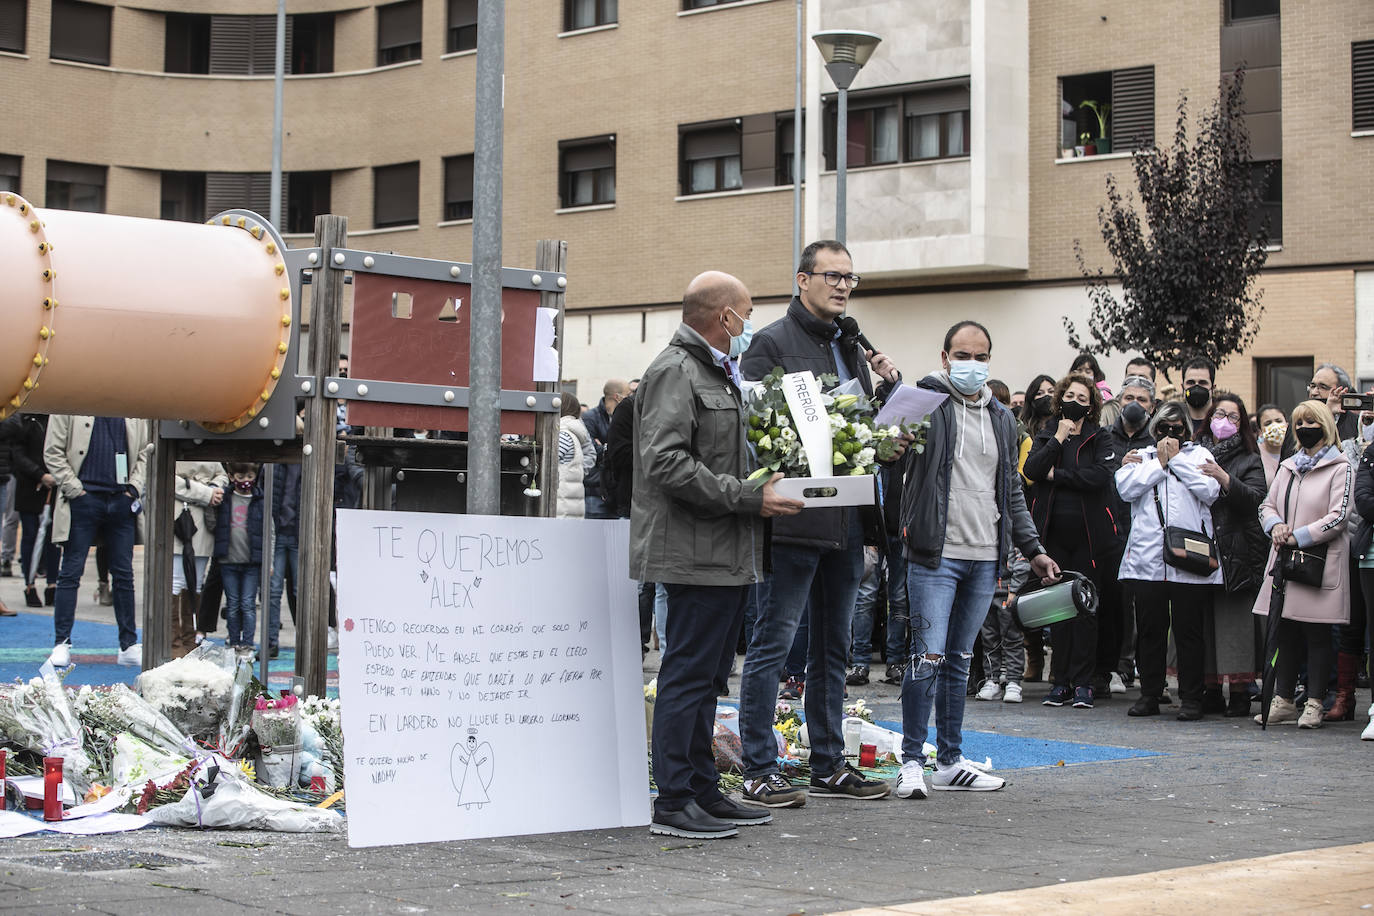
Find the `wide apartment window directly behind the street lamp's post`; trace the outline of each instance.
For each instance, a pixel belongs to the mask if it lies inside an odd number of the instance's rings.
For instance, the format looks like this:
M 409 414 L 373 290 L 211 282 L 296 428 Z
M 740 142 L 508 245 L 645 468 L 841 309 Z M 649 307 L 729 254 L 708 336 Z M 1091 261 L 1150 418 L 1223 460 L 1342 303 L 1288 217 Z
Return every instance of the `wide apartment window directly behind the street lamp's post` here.
M 826 168 L 835 168 L 838 100 L 826 99 Z M 969 155 L 969 87 L 883 88 L 849 96 L 849 168 Z

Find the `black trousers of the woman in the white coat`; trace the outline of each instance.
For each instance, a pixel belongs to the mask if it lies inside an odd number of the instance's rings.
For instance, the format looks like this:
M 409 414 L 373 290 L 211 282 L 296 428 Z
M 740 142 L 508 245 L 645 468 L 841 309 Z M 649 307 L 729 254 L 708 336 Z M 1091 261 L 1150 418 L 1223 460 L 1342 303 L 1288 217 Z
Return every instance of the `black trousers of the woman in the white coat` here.
M 1164 694 L 1169 655 L 1169 629 L 1179 654 L 1179 699 L 1202 702 L 1204 611 L 1212 606 L 1210 585 L 1183 582 L 1132 582 L 1135 592 L 1135 663 L 1140 670 L 1140 695 Z

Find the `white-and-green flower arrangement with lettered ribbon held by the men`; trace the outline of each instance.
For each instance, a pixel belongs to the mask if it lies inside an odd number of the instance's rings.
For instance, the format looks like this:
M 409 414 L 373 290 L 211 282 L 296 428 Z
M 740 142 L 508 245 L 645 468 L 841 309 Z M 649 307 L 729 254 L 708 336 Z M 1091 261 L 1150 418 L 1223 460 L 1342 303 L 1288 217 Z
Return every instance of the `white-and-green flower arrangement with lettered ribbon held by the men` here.
M 871 475 L 878 464 L 901 453 L 903 435 L 915 439 L 907 448 L 918 453 L 925 448 L 929 420 L 881 427 L 875 420 L 878 405 L 859 383 L 835 387 L 837 380 L 834 375 L 818 380 L 811 372 L 775 368 L 753 387 L 749 442 L 758 470 L 750 479 L 758 486 L 779 471 L 811 478 Z

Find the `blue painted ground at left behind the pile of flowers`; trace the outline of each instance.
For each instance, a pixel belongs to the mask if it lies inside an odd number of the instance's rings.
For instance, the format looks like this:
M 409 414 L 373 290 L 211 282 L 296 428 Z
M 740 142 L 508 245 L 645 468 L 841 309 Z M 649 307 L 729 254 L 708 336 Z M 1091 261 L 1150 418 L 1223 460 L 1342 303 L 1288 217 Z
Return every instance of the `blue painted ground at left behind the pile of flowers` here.
M 19 608 L 15 608 L 19 610 Z M 213 639 L 213 637 L 212 637 Z M 18 617 L 0 618 L 0 681 L 29 678 L 52 651 L 52 615 L 30 614 L 19 610 Z M 120 630 L 113 623 L 77 621 L 71 628 L 71 661 L 76 667 L 66 683 L 133 684 L 139 669 L 114 663 L 120 651 Z M 338 696 L 338 656 L 328 661 L 328 695 Z M 295 672 L 295 651 L 283 648 L 279 658 L 268 665 L 268 687 L 290 687 Z

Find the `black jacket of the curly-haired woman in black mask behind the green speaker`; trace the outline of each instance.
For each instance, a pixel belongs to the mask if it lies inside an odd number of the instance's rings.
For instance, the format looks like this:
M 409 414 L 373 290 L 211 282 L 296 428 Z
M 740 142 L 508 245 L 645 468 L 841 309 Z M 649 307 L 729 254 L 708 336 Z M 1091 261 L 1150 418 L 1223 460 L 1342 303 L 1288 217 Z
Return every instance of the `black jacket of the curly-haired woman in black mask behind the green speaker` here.
M 1081 531 L 1096 563 L 1121 548 L 1112 478 L 1116 445 L 1107 430 L 1091 422 L 1084 422 L 1083 431 L 1063 442 L 1054 437 L 1057 427 L 1058 423 L 1047 423 L 1040 430 L 1021 471 L 1030 481 L 1030 518 L 1040 537 L 1047 537 L 1055 493 L 1074 490 L 1083 503 Z M 1047 481 L 1051 468 L 1054 479 Z

